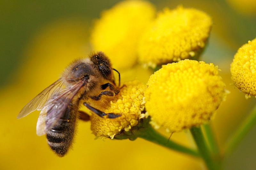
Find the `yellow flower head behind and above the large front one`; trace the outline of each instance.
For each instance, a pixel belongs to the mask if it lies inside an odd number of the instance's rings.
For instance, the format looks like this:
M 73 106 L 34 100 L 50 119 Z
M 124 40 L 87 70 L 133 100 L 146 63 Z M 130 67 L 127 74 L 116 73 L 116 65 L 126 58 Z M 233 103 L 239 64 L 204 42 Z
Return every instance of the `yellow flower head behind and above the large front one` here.
M 151 67 L 197 56 L 205 46 L 212 19 L 204 12 L 179 6 L 164 9 L 139 42 L 139 59 Z

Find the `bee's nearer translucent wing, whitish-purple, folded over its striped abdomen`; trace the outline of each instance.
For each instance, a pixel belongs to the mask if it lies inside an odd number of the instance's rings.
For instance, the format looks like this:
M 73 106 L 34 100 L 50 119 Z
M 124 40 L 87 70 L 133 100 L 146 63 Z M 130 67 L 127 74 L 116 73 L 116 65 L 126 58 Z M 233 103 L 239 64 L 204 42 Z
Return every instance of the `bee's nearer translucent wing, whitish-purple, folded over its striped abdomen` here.
M 36 134 L 38 136 L 44 135 L 60 120 L 60 117 L 65 114 L 70 105 L 71 100 L 83 85 L 84 83 L 80 82 L 71 87 L 67 87 L 54 94 L 52 98 L 45 103 L 36 124 Z

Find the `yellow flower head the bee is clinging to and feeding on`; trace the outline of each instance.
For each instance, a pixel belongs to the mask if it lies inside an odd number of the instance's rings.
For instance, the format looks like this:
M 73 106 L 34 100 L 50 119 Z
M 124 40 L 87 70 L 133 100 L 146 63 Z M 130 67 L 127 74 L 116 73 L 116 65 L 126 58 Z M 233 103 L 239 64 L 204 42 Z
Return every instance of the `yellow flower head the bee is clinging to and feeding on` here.
M 122 116 L 109 119 L 101 118 L 92 113 L 91 129 L 97 137 L 114 138 L 122 129 L 128 131 L 132 126 L 136 126 L 139 119 L 144 117 L 141 111 L 144 110 L 145 98 L 144 91 L 146 85 L 131 81 L 124 83 L 126 86 L 121 89 L 121 92 L 108 104 L 99 108 L 105 113 L 122 114 Z

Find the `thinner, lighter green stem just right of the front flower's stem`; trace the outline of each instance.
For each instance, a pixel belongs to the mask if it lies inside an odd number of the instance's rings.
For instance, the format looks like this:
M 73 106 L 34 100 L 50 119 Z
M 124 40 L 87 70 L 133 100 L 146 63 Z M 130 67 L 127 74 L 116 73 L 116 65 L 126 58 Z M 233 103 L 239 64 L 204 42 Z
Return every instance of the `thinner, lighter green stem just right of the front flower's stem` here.
M 212 155 L 215 157 L 215 159 L 220 160 L 220 150 L 219 150 L 217 141 L 215 139 L 215 135 L 212 131 L 211 125 L 204 124 L 203 127 L 204 127 L 205 136 L 207 138 Z

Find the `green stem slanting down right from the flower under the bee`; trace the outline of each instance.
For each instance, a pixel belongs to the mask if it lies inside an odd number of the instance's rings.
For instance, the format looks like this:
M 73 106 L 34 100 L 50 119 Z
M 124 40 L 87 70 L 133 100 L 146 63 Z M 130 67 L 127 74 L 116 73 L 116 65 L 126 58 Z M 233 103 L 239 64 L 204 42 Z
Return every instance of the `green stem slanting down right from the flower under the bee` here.
M 137 137 L 143 138 L 145 140 L 148 140 L 150 142 L 153 142 L 155 144 L 162 145 L 164 147 L 170 148 L 172 150 L 186 153 L 192 156 L 199 156 L 199 153 L 193 149 L 187 148 L 185 146 L 182 146 L 180 144 L 177 144 L 171 140 L 168 140 L 166 137 L 159 134 L 155 129 L 153 129 L 150 125 L 143 130 L 139 131 L 139 133 L 135 134 Z

